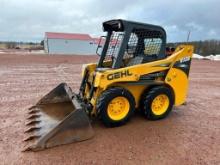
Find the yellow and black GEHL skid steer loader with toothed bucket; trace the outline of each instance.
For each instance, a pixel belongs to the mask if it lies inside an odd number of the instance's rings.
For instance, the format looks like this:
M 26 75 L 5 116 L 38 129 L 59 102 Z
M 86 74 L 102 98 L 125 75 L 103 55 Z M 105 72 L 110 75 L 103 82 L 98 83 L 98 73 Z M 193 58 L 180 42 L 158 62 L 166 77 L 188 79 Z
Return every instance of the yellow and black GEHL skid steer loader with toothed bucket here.
M 192 46 L 166 55 L 166 32 L 151 24 L 110 20 L 103 30 L 99 61 L 83 65 L 79 93 L 62 83 L 29 108 L 26 150 L 90 139 L 92 117 L 107 127 L 125 124 L 135 110 L 158 120 L 186 101 Z

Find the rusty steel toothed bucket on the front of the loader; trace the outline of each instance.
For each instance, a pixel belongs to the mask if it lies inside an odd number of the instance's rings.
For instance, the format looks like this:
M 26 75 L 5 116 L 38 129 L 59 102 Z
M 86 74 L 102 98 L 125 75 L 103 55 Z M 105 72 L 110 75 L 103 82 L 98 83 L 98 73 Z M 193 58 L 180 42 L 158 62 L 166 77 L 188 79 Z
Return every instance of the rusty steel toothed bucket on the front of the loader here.
M 94 136 L 89 118 L 76 94 L 62 83 L 28 109 L 25 151 L 79 142 Z

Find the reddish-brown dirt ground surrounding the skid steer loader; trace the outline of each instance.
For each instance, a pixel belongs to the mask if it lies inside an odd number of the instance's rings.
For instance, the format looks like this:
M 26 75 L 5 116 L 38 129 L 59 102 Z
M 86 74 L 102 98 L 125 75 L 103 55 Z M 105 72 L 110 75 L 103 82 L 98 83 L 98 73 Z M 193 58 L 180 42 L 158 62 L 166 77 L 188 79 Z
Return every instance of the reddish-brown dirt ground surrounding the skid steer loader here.
M 88 141 L 21 152 L 27 108 L 61 82 L 77 91 L 90 56 L 0 54 L 0 164 L 220 164 L 220 62 L 192 62 L 187 105 L 160 121 L 94 124 Z

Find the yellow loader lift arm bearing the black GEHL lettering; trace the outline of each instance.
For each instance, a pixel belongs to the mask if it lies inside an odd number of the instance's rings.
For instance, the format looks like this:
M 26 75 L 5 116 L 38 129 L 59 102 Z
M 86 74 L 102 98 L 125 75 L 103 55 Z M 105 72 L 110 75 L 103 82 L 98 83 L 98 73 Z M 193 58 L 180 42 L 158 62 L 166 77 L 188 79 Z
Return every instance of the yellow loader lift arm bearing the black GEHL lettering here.
M 116 83 L 116 82 L 128 82 L 128 81 L 138 81 L 139 77 L 141 75 L 163 71 L 171 68 L 173 64 L 175 64 L 176 61 L 179 61 L 183 57 L 192 57 L 193 47 L 192 46 L 179 46 L 177 48 L 179 51 L 173 53 L 170 57 L 149 62 L 145 64 L 139 64 L 135 66 L 120 68 L 120 69 L 110 69 L 106 70 L 105 72 L 99 72 L 97 73 L 97 76 L 95 78 L 95 87 L 100 87 L 103 89 L 106 89 L 109 85 Z M 169 64 L 170 66 L 160 66 L 163 64 Z M 107 77 L 109 74 L 116 74 L 118 72 L 125 72 L 126 70 L 129 70 L 129 73 L 132 74 L 132 76 L 124 76 L 120 79 L 113 79 L 108 80 Z

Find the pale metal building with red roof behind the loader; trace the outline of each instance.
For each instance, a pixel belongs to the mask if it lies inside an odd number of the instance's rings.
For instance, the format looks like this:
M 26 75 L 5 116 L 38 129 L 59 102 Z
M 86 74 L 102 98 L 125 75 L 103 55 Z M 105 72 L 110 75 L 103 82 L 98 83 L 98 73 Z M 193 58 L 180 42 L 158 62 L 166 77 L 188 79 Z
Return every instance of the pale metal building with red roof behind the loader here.
M 49 54 L 95 54 L 97 39 L 89 34 L 46 32 L 44 50 Z

